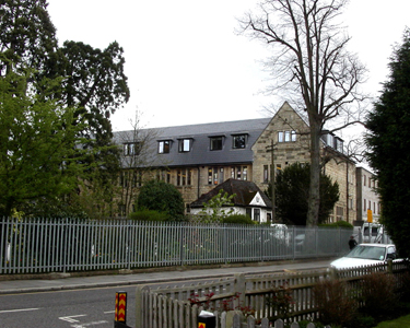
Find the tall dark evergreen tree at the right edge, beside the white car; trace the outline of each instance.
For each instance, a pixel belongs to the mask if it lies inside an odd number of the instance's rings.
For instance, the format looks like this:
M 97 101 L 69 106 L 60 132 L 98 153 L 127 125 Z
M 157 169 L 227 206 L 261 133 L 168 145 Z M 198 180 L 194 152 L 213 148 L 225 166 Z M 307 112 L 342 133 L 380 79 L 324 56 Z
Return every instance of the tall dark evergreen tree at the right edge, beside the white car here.
M 382 222 L 400 256 L 409 257 L 410 30 L 394 50 L 389 69 L 389 79 L 366 121 L 367 157 L 378 179 Z

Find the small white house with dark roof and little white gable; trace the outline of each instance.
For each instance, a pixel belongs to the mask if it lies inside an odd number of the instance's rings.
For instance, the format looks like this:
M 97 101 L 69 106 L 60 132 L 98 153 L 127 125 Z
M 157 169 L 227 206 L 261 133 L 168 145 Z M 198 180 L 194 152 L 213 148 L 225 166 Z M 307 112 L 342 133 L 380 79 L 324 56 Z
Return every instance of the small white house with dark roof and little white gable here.
M 230 196 L 235 195 L 232 199 L 233 206 L 230 207 L 235 214 L 246 214 L 257 222 L 270 222 L 272 218 L 272 202 L 265 192 L 251 181 L 233 178 L 218 185 L 211 191 L 203 194 L 196 201 L 191 202 L 190 213 L 198 214 L 203 209 L 203 204 L 208 203 L 221 189 Z

